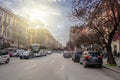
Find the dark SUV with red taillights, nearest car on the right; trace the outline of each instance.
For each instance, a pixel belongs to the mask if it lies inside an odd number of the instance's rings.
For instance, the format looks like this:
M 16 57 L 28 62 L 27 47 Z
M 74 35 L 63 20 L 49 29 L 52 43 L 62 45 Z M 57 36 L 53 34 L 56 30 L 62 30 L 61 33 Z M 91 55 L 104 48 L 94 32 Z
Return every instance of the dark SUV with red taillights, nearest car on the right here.
M 88 65 L 96 65 L 102 67 L 103 58 L 101 53 L 95 51 L 84 51 L 80 56 L 80 63 L 87 67 Z

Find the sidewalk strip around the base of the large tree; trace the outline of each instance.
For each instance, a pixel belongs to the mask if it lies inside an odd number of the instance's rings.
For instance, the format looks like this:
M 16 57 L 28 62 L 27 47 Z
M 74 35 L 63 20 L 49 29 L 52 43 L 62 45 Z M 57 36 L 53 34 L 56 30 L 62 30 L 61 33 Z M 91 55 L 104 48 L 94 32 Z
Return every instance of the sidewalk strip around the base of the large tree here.
M 117 66 L 107 64 L 107 59 L 103 59 L 103 67 L 120 74 L 120 58 L 116 58 Z

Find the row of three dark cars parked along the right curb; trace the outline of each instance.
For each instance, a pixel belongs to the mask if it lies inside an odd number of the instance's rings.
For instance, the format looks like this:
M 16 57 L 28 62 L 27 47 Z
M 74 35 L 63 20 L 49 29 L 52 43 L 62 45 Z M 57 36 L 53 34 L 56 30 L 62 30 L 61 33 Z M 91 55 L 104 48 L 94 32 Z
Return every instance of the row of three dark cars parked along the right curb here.
M 85 68 L 89 65 L 101 68 L 103 64 L 103 55 L 97 51 L 64 51 L 63 57 L 71 57 L 73 62 L 79 62 Z

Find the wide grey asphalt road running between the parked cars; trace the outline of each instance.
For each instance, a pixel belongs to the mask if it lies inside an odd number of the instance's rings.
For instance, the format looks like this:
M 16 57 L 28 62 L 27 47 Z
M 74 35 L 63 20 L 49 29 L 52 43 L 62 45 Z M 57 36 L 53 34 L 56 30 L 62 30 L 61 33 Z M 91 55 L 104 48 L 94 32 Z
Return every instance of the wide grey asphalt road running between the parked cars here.
M 0 64 L 0 80 L 114 80 L 103 69 L 83 68 L 71 58 L 52 54 L 27 60 L 12 58 Z

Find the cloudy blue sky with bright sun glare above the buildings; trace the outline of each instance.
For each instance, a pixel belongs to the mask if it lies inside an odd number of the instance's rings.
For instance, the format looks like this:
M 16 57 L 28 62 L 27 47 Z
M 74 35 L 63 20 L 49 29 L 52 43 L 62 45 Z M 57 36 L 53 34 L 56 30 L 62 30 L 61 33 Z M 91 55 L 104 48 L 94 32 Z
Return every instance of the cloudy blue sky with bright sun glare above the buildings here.
M 23 17 L 31 26 L 47 28 L 63 45 L 69 39 L 72 0 L 0 0 L 0 5 Z

